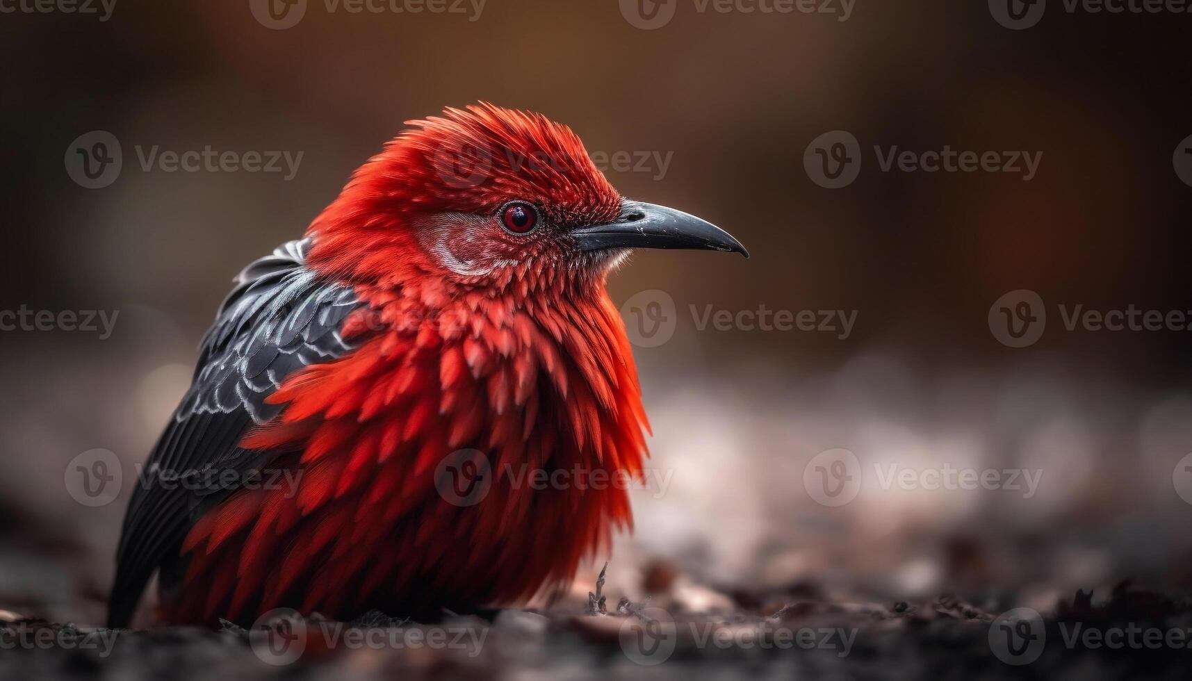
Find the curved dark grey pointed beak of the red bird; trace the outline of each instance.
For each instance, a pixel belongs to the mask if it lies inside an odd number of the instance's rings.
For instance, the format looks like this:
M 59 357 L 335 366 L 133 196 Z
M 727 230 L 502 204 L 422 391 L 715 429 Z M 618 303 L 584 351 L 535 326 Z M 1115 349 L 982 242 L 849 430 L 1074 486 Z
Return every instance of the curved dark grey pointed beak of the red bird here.
M 626 200 L 616 222 L 571 230 L 581 250 L 609 248 L 688 248 L 740 253 L 749 250 L 731 234 L 694 215 L 641 202 Z

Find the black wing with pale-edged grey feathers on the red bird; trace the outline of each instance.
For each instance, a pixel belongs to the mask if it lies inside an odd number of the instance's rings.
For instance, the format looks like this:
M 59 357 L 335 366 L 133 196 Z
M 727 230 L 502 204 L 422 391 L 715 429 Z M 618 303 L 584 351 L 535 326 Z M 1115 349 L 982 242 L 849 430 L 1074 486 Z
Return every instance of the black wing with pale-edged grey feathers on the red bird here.
M 249 265 L 203 339 L 191 389 L 137 476 L 117 550 L 108 626 L 128 626 L 154 570 L 178 552 L 201 510 L 235 489 L 195 489 L 175 476 L 206 481 L 221 479 L 213 471 L 249 470 L 261 452 L 241 448 L 241 438 L 284 407 L 266 398 L 294 370 L 352 349 L 340 328 L 361 302 L 352 287 L 305 267 L 309 248 L 310 240 L 292 241 Z

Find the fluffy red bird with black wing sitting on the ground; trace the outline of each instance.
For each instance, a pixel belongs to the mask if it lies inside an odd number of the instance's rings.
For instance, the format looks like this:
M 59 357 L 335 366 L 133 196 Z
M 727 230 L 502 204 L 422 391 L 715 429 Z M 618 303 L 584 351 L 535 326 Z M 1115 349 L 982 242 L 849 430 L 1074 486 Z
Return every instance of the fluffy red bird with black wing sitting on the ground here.
M 745 248 L 623 199 L 540 114 L 409 125 L 237 278 L 129 503 L 110 626 L 155 571 L 173 624 L 517 603 L 632 524 L 623 485 L 521 471 L 640 475 L 648 425 L 606 277 L 632 248 Z M 445 469 L 491 476 L 483 501 L 441 493 Z

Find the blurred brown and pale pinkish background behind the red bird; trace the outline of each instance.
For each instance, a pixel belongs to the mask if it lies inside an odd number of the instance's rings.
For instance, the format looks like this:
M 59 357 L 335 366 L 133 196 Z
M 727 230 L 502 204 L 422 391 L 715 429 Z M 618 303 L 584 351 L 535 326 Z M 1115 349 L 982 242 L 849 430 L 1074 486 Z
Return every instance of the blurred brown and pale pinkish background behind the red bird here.
M 1057 305 L 1192 309 L 1190 18 L 1067 13 L 1012 31 L 983 1 L 857 0 L 839 14 L 701 13 L 641 30 L 615 0 L 489 0 L 467 13 L 353 14 L 311 0 L 271 30 L 248 0 L 118 0 L 111 18 L 0 14 L 0 310 L 118 310 L 98 333 L 0 333 L 0 608 L 98 623 L 123 504 L 68 494 L 68 463 L 126 477 L 190 379 L 240 268 L 297 237 L 410 118 L 477 100 L 541 111 L 626 196 L 721 224 L 752 250 L 639 253 L 617 303 L 673 301 L 639 347 L 652 469 L 608 593 L 893 600 L 955 592 L 1049 607 L 1076 587 L 1192 586 L 1192 333 L 1067 332 Z M 837 2 L 832 2 L 837 5 Z M 471 11 L 470 11 L 471 12 Z M 83 188 L 72 142 L 124 167 Z M 808 144 L 846 130 L 858 179 L 817 186 Z M 871 148 L 1042 153 L 1038 174 L 880 172 Z M 144 172 L 136 147 L 302 153 L 297 174 Z M 1010 348 L 991 305 L 1029 289 L 1042 339 Z M 855 310 L 832 333 L 699 329 L 704 310 Z M 831 448 L 864 471 L 818 503 Z M 1042 471 L 1036 494 L 882 489 L 874 466 Z M 1190 473 L 1192 476 L 1192 473 Z M 1185 481 L 1185 490 L 1192 482 Z M 1192 499 L 1192 496 L 1190 496 Z M 582 576 L 584 588 L 591 575 Z

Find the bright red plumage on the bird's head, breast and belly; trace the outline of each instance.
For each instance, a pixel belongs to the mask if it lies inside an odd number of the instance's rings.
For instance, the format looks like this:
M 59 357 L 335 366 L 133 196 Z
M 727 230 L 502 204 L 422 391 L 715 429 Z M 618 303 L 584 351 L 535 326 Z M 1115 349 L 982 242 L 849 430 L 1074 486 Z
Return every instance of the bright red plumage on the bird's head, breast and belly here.
M 451 171 L 435 167 L 435 154 L 477 143 L 493 180 L 442 187 L 439 174 Z M 508 162 L 532 163 L 536 153 L 550 155 L 548 172 Z M 631 524 L 623 489 L 515 489 L 507 475 L 522 463 L 641 469 L 646 416 L 603 271 L 526 253 L 524 266 L 496 278 L 451 277 L 409 224 L 443 210 L 491 211 L 510 196 L 552 206 L 559 222 L 613 219 L 621 202 L 570 130 L 477 107 L 390 143 L 315 221 L 309 265 L 356 281 L 368 304 L 344 334 L 381 330 L 269 397 L 286 410 L 243 445 L 299 447 L 299 493 L 241 491 L 204 515 L 184 544 L 191 562 L 179 596 L 163 603 L 168 620 L 252 620 L 280 606 L 348 617 L 378 605 L 516 602 L 567 582 Z M 443 500 L 433 479 L 435 464 L 464 447 L 495 453 L 495 485 L 472 507 Z M 325 547 L 331 559 L 317 562 Z

